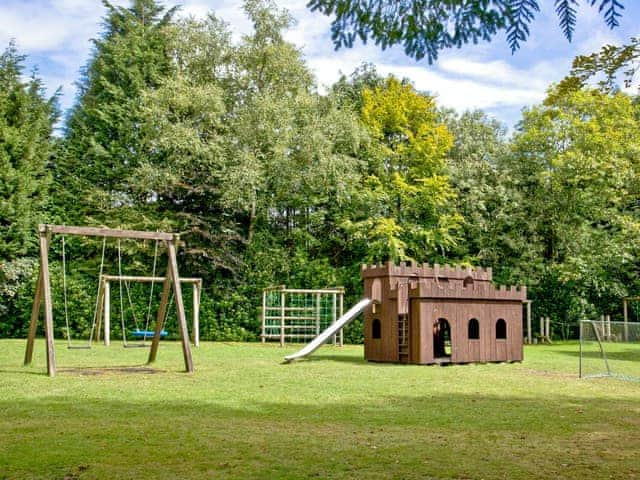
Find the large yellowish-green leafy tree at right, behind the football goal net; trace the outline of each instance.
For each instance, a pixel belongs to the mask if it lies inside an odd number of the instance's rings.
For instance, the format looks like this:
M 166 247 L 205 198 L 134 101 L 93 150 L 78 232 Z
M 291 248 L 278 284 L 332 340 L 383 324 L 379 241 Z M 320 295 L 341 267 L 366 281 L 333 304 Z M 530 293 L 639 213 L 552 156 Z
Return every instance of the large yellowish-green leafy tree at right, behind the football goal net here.
M 524 114 L 504 168 L 500 264 L 539 311 L 575 321 L 633 288 L 640 246 L 638 111 L 622 93 L 553 90 Z

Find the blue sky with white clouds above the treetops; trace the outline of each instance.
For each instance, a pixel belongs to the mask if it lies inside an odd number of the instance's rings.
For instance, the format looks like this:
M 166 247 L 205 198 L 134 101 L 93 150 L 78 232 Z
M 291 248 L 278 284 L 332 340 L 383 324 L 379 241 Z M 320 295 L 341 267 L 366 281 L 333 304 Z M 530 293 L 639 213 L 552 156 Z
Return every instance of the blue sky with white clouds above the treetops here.
M 128 0 L 113 0 L 128 5 Z M 334 51 L 330 19 L 309 12 L 305 0 L 276 0 L 297 20 L 287 40 L 301 48 L 318 85 L 330 85 L 340 72 L 351 73 L 362 62 L 375 64 L 383 74 L 410 78 L 416 88 L 438 98 L 439 105 L 458 111 L 480 108 L 512 127 L 523 107 L 540 102 L 551 82 L 559 81 L 576 55 L 597 51 L 602 45 L 621 44 L 640 35 L 640 1 L 625 1 L 622 25 L 609 30 L 597 9 L 580 8 L 574 40 L 569 43 L 557 26 L 552 0 L 541 0 L 542 11 L 531 37 L 511 54 L 504 36 L 490 43 L 445 50 L 438 62 L 415 61 L 400 48 L 386 51 L 373 44 Z M 581 3 L 586 4 L 583 0 Z M 209 11 L 230 24 L 236 38 L 250 31 L 241 0 L 183 0 L 181 15 L 202 17 Z M 28 65 L 37 66 L 49 93 L 62 88 L 61 106 L 75 97 L 80 68 L 87 63 L 91 38 L 99 36 L 104 7 L 98 0 L 0 0 L 0 46 L 15 39 Z

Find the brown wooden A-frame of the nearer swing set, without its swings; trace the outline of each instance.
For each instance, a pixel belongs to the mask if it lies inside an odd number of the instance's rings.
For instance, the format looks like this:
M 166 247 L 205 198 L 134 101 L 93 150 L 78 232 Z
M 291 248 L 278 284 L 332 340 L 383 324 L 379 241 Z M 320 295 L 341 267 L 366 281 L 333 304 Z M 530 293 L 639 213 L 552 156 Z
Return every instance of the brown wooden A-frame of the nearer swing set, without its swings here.
M 73 227 L 63 225 L 40 225 L 38 227 L 40 245 L 40 271 L 38 273 L 38 283 L 31 310 L 31 323 L 27 337 L 27 348 L 24 355 L 24 364 L 29 365 L 33 360 L 33 346 L 36 338 L 36 329 L 40 316 L 40 307 L 44 306 L 44 333 L 47 348 L 47 374 L 50 377 L 56 374 L 55 347 L 53 342 L 53 303 L 51 298 L 51 280 L 49 276 L 49 247 L 52 235 L 78 235 L 85 237 L 103 238 L 126 238 L 132 240 L 157 240 L 162 241 L 167 246 L 167 273 L 162 282 L 162 296 L 160 306 L 156 316 L 156 328 L 154 331 L 151 349 L 149 351 L 148 363 L 153 363 L 158 354 L 160 336 L 164 327 L 164 319 L 169 301 L 169 292 L 173 288 L 176 302 L 176 316 L 180 327 L 180 340 L 182 343 L 182 354 L 184 357 L 185 370 L 193 372 L 193 359 L 191 357 L 191 347 L 189 345 L 189 332 L 182 300 L 182 289 L 180 286 L 180 274 L 178 273 L 178 260 L 176 258 L 176 244 L 180 237 L 174 233 L 165 232 L 145 232 L 138 230 L 117 230 L 111 228 L 95 227 Z

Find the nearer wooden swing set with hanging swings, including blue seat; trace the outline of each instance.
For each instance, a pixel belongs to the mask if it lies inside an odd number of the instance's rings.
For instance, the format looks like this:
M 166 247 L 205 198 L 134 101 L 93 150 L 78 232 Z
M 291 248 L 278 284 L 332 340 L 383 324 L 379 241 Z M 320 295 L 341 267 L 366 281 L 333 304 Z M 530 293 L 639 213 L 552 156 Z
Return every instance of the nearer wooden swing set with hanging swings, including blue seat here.
M 167 320 L 168 311 L 170 307 L 169 294 L 172 291 L 172 300 L 175 299 L 175 310 L 176 317 L 178 320 L 178 326 L 180 330 L 180 339 L 182 343 L 182 352 L 184 357 L 185 370 L 187 372 L 193 372 L 193 360 L 191 358 L 191 349 L 189 346 L 189 334 L 187 330 L 187 322 L 185 318 L 185 310 L 184 304 L 182 300 L 182 289 L 181 289 L 181 281 L 180 275 L 178 273 L 178 262 L 176 258 L 176 244 L 179 240 L 179 236 L 173 233 L 164 233 L 164 232 L 145 232 L 145 231 L 137 231 L 137 230 L 116 230 L 110 228 L 94 228 L 94 227 L 72 227 L 72 226 L 61 226 L 61 225 L 40 225 L 39 226 L 39 244 L 40 244 L 40 271 L 38 274 L 38 283 L 36 285 L 36 294 L 33 302 L 33 309 L 31 311 L 31 322 L 29 326 L 29 334 L 27 338 L 27 348 L 25 351 L 25 359 L 24 364 L 29 365 L 33 360 L 33 346 L 35 342 L 36 329 L 38 325 L 38 319 L 40 315 L 40 307 L 44 306 L 44 332 L 46 338 L 46 348 L 47 348 L 47 373 L 49 376 L 54 376 L 56 373 L 56 362 L 55 362 L 55 348 L 53 342 L 53 301 L 51 295 L 51 281 L 49 274 L 49 247 L 51 245 L 52 235 L 62 235 L 62 271 L 63 271 L 63 297 L 64 297 L 64 313 L 65 313 L 65 327 L 66 327 L 66 336 L 67 336 L 67 347 L 68 348 L 82 348 L 87 349 L 91 348 L 91 344 L 93 342 L 94 334 L 96 331 L 99 336 L 99 324 L 96 328 L 96 324 L 100 321 L 103 314 L 106 313 L 104 309 L 106 296 L 105 289 L 101 288 L 104 282 L 104 258 L 105 258 L 105 249 L 106 249 L 106 241 L 107 238 L 115 238 L 117 239 L 117 251 L 118 251 L 118 277 L 119 278 L 119 296 L 120 296 L 120 318 L 122 323 L 122 335 L 123 335 L 123 344 L 125 347 L 128 346 L 146 346 L 145 341 L 147 338 L 152 338 L 151 348 L 149 351 L 149 359 L 148 362 L 152 363 L 156 360 L 158 346 L 160 343 L 160 338 L 167 335 L 164 330 L 164 324 Z M 69 313 L 68 313 L 68 302 L 67 302 L 67 281 L 66 281 L 66 249 L 65 249 L 65 235 L 78 235 L 78 236 L 89 236 L 89 237 L 102 237 L 102 255 L 100 261 L 100 275 L 99 275 L 99 287 L 98 294 L 96 295 L 96 305 L 93 311 L 93 321 L 91 323 L 91 330 L 89 333 L 89 341 L 87 345 L 73 345 L 71 343 L 71 332 L 70 332 L 70 322 L 69 322 Z M 149 295 L 149 304 L 147 306 L 147 315 L 145 319 L 145 328 L 141 330 L 138 327 L 138 321 L 135 318 L 135 313 L 131 301 L 131 292 L 129 289 L 128 281 L 126 281 L 126 276 L 122 275 L 122 254 L 121 254 L 121 239 L 133 239 L 133 240 L 155 240 L 156 246 L 154 251 L 154 262 L 153 262 L 153 275 L 152 275 L 152 288 L 151 293 Z M 160 242 L 163 242 L 167 248 L 167 273 L 164 277 L 156 277 L 156 266 L 157 266 L 157 258 L 158 258 L 158 245 Z M 144 277 L 149 278 L 149 277 Z M 151 305 L 153 301 L 153 285 L 154 283 L 162 282 L 162 295 L 160 298 L 160 305 L 156 315 L 156 324 L 155 329 L 152 331 L 149 329 L 149 323 L 151 319 Z M 123 289 L 124 285 L 124 289 Z M 198 289 L 199 290 L 199 289 Z M 123 296 L 126 291 L 127 298 L 129 301 L 129 308 L 134 316 L 134 321 L 136 323 L 136 330 L 133 331 L 132 336 L 135 338 L 142 338 L 142 343 L 138 344 L 129 344 L 126 338 L 126 325 L 125 325 L 125 309 L 124 309 L 124 301 Z M 199 301 L 199 295 L 198 295 Z M 108 305 L 108 303 L 107 303 Z M 195 303 L 194 303 L 195 305 Z M 106 317 L 108 318 L 108 317 Z M 194 316 L 194 320 L 197 318 Z M 194 322 L 195 323 L 195 322 Z M 106 326 L 106 325 L 105 325 Z M 194 334 L 195 335 L 195 334 Z

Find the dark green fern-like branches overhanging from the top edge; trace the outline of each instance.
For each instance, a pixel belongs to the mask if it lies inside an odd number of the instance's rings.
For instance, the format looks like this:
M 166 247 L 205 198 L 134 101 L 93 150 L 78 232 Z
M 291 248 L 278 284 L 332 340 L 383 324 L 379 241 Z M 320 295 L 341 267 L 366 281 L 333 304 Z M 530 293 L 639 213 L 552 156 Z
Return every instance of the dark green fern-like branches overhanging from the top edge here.
M 336 48 L 352 47 L 356 39 L 373 40 L 383 49 L 401 44 L 413 58 L 429 63 L 445 48 L 488 41 L 505 32 L 512 51 L 527 40 L 540 12 L 538 0 L 310 0 L 308 7 L 334 15 L 331 33 Z M 583 0 L 597 6 L 610 28 L 619 25 L 622 0 Z M 578 0 L 555 0 L 560 28 L 571 41 Z

